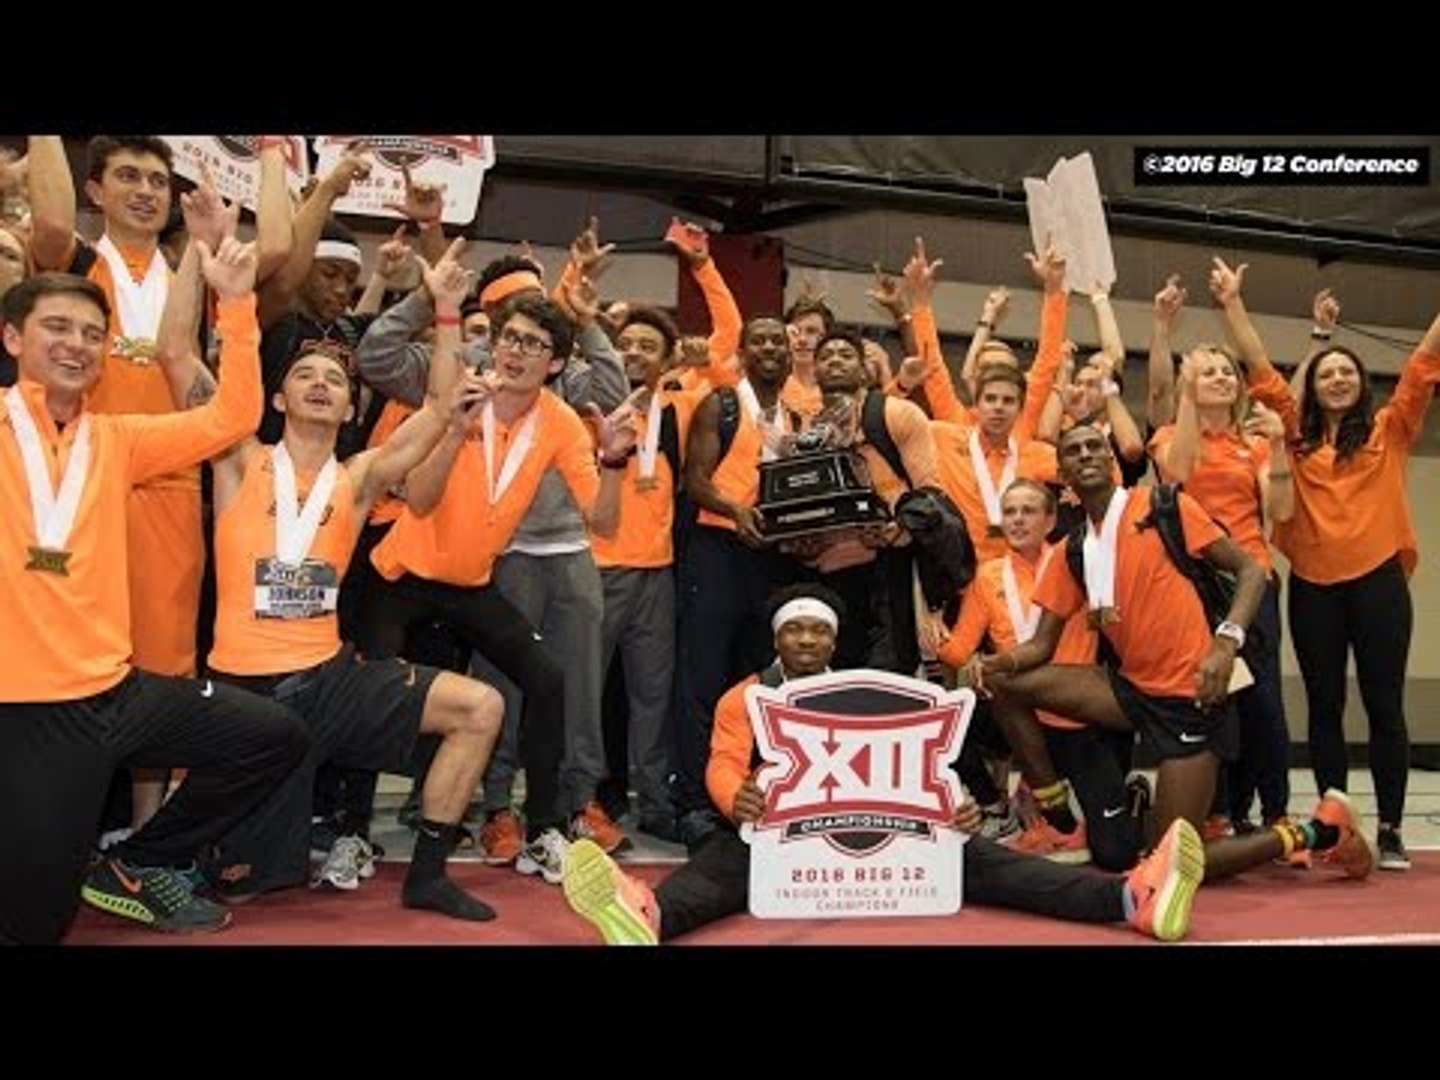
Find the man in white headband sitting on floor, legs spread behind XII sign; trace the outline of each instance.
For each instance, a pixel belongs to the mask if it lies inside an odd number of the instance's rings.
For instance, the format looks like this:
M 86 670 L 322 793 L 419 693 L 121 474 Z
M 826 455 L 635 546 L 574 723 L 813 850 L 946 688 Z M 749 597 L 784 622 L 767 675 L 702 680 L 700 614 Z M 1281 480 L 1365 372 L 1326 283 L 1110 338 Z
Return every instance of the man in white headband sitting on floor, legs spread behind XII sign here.
M 795 585 L 772 598 L 775 649 L 772 670 L 732 687 L 716 707 L 714 739 L 706 783 L 727 824 L 714 829 L 696 854 L 654 893 L 590 841 L 570 845 L 564 899 L 611 945 L 655 945 L 706 923 L 744 912 L 750 888 L 750 848 L 734 827 L 757 821 L 765 795 L 755 783 L 755 734 L 744 690 L 762 678 L 804 678 L 829 670 L 842 602 L 821 585 Z M 1090 923 L 1128 922 L 1140 933 L 1175 940 L 1189 927 L 1189 907 L 1205 873 L 1200 835 L 1176 821 L 1155 854 L 1125 877 L 1063 865 L 1009 851 L 975 835 L 981 814 L 966 798 L 956 809 L 965 845 L 965 899 Z

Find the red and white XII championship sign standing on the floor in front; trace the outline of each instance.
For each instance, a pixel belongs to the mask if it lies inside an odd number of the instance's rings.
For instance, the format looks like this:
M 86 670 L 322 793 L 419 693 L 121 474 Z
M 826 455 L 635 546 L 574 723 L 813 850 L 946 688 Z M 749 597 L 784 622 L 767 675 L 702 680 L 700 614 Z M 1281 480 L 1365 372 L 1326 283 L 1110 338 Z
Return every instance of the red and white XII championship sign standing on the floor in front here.
M 765 815 L 750 912 L 854 919 L 960 910 L 963 793 L 950 769 L 975 694 L 887 671 L 832 671 L 746 690 Z

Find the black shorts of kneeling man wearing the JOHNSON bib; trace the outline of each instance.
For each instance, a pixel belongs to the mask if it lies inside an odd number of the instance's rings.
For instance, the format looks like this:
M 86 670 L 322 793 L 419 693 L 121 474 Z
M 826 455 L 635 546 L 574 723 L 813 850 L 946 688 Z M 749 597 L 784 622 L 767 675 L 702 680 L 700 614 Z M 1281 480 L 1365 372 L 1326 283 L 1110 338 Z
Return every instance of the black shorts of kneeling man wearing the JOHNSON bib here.
M 212 674 L 300 713 L 315 762 L 408 775 L 439 670 L 399 657 L 360 660 L 344 645 L 324 664 L 292 675 Z

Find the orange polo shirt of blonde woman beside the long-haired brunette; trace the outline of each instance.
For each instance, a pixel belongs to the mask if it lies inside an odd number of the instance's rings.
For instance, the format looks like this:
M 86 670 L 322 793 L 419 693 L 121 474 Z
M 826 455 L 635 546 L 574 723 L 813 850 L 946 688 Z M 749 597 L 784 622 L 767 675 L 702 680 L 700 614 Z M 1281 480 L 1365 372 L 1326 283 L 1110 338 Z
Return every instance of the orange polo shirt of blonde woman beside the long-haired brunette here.
M 1161 480 L 1175 474 L 1161 467 L 1159 451 L 1175 442 L 1175 425 L 1166 423 L 1151 438 L 1151 456 Z M 1260 474 L 1270 467 L 1270 441 L 1234 431 L 1201 431 L 1200 461 L 1185 481 L 1185 491 L 1270 573 L 1270 544 L 1264 541 Z

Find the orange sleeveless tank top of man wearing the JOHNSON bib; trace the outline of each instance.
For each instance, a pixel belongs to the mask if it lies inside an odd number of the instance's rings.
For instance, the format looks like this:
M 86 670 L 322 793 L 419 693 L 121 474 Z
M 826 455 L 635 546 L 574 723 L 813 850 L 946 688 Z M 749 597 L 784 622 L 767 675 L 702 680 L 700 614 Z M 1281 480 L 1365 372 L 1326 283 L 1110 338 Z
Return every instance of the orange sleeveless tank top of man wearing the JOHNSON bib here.
M 305 504 L 320 469 L 295 474 Z M 350 471 L 336 469 L 336 487 L 305 553 L 301 585 L 338 590 L 359 537 Z M 209 665 L 232 675 L 276 675 L 323 664 L 340 651 L 334 611 L 308 618 L 268 618 L 256 612 L 262 560 L 275 557 L 274 448 L 258 446 L 245 462 L 235 500 L 215 520 L 215 648 Z

